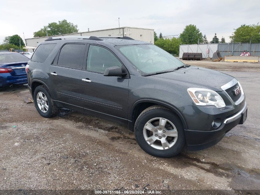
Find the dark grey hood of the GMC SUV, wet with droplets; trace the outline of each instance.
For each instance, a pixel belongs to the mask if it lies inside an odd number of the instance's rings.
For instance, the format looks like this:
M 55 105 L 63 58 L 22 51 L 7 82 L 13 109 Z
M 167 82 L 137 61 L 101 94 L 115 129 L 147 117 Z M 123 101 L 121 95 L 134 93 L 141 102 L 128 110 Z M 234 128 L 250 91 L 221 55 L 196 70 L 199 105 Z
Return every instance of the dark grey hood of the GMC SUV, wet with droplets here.
M 149 77 L 174 85 L 182 85 L 187 88 L 199 87 L 214 91 L 223 91 L 221 86 L 234 79 L 234 77 L 222 72 L 195 66 L 181 68 L 173 72 L 151 75 Z

